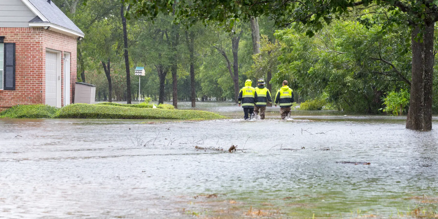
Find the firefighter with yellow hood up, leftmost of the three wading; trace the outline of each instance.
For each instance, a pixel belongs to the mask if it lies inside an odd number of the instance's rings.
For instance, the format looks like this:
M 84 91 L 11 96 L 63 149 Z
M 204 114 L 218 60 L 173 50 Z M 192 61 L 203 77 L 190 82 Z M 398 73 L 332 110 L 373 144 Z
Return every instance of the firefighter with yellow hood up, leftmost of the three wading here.
M 240 89 L 237 100 L 239 106 L 244 108 L 244 119 L 252 119 L 254 113 L 254 103 L 257 101 L 257 92 L 251 87 L 252 81 L 250 79 L 245 81 L 245 86 Z

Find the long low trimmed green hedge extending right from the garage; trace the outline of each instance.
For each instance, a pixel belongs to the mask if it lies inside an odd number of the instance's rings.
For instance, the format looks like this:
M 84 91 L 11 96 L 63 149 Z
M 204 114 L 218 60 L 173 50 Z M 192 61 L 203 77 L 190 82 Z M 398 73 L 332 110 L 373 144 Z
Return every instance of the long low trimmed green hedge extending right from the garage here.
M 76 103 L 60 109 L 57 118 L 78 119 L 223 119 L 216 113 L 200 110 L 151 109 Z

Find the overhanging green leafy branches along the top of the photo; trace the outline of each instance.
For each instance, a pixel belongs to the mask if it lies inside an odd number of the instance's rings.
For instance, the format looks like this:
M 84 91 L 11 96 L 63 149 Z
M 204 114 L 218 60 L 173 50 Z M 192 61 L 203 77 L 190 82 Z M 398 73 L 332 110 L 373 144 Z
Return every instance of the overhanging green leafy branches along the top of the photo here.
M 370 8 L 371 13 L 385 14 L 382 21 L 385 27 L 392 24 L 402 24 L 405 27 L 429 25 L 438 20 L 438 1 L 420 0 L 330 0 L 330 1 L 279 1 L 265 0 L 261 4 L 255 0 L 131 0 L 129 4 L 134 10 L 130 15 L 141 15 L 154 18 L 159 12 L 171 13 L 175 10 L 176 22 L 184 22 L 188 25 L 202 21 L 206 24 L 218 22 L 226 24 L 230 18 L 248 21 L 251 16 L 265 15 L 273 19 L 278 26 L 303 25 L 302 31 L 306 36 L 312 37 L 315 32 L 323 28 L 325 24 L 331 24 L 341 18 L 351 18 L 356 15 L 366 27 L 378 23 L 357 16 L 358 8 Z M 196 7 L 193 7 L 196 4 Z M 227 26 L 231 31 L 233 23 Z

